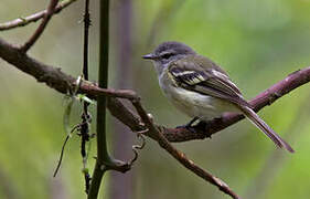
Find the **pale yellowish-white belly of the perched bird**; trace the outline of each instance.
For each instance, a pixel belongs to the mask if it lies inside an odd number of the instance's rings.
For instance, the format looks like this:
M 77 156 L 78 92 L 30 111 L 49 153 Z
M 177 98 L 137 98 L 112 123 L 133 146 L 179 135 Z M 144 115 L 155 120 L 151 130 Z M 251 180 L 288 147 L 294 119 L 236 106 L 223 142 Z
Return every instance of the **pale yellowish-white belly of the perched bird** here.
M 203 95 L 173 85 L 161 87 L 172 104 L 191 117 L 210 121 L 220 117 L 225 112 L 238 112 L 238 108 L 232 103 L 217 97 Z

